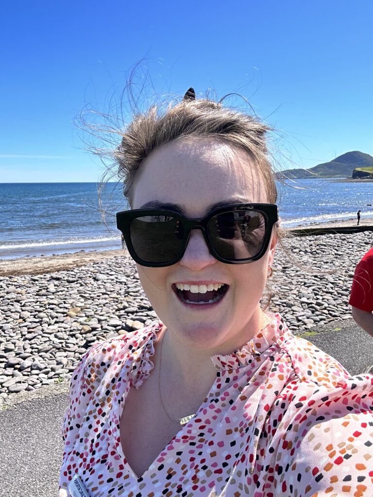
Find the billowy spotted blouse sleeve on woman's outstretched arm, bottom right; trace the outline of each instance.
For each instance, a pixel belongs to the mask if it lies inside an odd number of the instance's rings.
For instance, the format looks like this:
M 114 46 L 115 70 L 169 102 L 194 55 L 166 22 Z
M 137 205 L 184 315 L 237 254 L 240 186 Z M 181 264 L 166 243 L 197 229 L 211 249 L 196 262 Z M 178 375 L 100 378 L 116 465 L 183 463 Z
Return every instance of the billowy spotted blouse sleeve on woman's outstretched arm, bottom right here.
M 278 490 L 287 496 L 373 496 L 373 375 L 319 387 L 277 444 Z M 291 410 L 292 411 L 292 410 Z

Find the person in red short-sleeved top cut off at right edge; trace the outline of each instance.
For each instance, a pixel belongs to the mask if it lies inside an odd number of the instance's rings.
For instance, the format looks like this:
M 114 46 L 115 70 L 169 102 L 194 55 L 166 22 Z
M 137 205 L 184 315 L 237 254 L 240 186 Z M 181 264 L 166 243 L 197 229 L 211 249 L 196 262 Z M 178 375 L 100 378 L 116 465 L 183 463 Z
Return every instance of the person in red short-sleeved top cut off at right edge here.
M 349 304 L 356 323 L 373 336 L 373 248 L 356 266 Z

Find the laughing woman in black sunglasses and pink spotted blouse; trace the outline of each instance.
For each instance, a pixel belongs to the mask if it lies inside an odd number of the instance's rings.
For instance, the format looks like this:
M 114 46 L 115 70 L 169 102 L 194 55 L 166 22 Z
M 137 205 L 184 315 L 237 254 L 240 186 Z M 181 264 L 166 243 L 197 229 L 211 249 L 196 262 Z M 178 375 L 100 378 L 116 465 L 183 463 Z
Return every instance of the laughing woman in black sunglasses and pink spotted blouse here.
M 60 496 L 373 495 L 373 375 L 260 306 L 280 239 L 268 130 L 191 88 L 123 133 L 117 225 L 161 321 L 76 368 Z

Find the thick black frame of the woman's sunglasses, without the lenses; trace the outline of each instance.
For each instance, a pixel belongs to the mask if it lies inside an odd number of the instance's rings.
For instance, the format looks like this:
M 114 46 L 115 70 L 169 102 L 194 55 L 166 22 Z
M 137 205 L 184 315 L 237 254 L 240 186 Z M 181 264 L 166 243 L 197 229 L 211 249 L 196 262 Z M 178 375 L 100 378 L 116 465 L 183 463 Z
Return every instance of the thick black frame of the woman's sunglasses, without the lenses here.
M 224 212 L 232 210 L 247 210 L 247 211 L 253 210 L 261 213 L 264 217 L 266 223 L 264 241 L 261 250 L 254 257 L 248 257 L 245 259 L 235 259 L 235 260 L 225 259 L 224 257 L 221 257 L 213 247 L 208 232 L 209 222 L 216 215 L 223 214 Z M 131 241 L 130 225 L 134 219 L 143 216 L 171 216 L 177 221 L 181 221 L 183 223 L 183 228 L 184 228 L 183 245 L 180 249 L 180 252 L 177 254 L 177 256 L 174 257 L 174 259 L 168 262 L 147 262 L 137 256 Z M 210 253 L 220 262 L 224 262 L 226 264 L 247 264 L 249 262 L 253 262 L 255 260 L 260 259 L 267 251 L 268 245 L 271 240 L 272 228 L 274 224 L 277 223 L 278 220 L 279 220 L 279 214 L 276 204 L 226 205 L 224 207 L 219 207 L 218 209 L 210 211 L 201 219 L 194 219 L 194 218 L 189 219 L 183 214 L 180 214 L 179 212 L 166 210 L 166 209 L 133 209 L 133 210 L 121 211 L 116 213 L 116 226 L 118 230 L 120 230 L 123 234 L 126 247 L 131 257 L 134 259 L 135 262 L 137 262 L 141 266 L 146 266 L 146 267 L 166 267 L 166 266 L 172 266 L 173 264 L 179 262 L 179 260 L 183 257 L 185 253 L 185 250 L 187 248 L 187 243 L 189 240 L 190 231 L 193 229 L 199 229 L 202 231 L 203 237 L 205 239 L 205 242 L 207 244 Z

